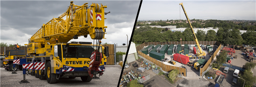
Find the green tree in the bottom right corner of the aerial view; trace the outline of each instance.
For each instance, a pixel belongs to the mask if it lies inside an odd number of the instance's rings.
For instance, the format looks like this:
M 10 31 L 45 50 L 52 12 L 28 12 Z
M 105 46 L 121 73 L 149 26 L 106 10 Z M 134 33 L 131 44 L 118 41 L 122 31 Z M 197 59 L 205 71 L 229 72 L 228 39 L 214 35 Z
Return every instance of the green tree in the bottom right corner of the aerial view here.
M 243 75 L 239 74 L 238 76 L 245 80 L 245 83 L 244 83 L 243 79 L 240 79 L 240 78 L 238 79 L 238 81 L 241 82 L 240 83 L 241 87 L 243 85 L 244 85 L 244 87 L 246 85 L 249 86 L 249 87 L 253 87 L 253 83 L 256 83 L 256 76 L 253 76 L 253 73 L 251 71 L 245 70 Z

